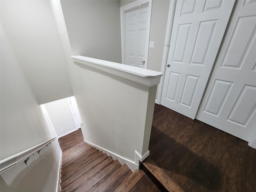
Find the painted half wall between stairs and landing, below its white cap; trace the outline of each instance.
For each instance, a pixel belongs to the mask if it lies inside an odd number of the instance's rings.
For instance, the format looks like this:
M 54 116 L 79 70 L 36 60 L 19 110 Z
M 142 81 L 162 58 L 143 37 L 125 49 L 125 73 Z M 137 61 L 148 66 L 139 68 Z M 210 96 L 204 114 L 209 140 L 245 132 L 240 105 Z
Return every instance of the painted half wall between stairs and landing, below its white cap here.
M 156 86 L 149 88 L 83 64 L 76 63 L 75 68 L 84 139 L 135 162 L 135 150 L 140 155 L 148 150 L 149 138 L 144 139 L 144 134 L 150 135 L 153 110 L 148 104 L 154 108 Z

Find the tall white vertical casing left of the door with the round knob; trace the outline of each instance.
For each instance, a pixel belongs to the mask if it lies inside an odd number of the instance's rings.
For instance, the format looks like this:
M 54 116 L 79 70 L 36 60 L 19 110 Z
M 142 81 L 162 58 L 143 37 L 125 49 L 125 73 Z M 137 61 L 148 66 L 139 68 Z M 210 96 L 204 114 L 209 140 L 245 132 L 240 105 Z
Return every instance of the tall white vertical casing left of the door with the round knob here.
M 160 80 L 160 83 L 158 86 L 158 92 L 156 93 L 156 103 L 157 104 L 161 103 L 162 90 L 163 90 L 163 86 L 164 86 L 164 75 L 165 75 L 165 69 L 166 69 L 166 62 L 167 62 L 167 58 L 168 58 L 170 39 L 171 39 L 171 34 L 172 34 L 172 23 L 173 23 L 173 18 L 174 18 L 175 5 L 176 5 L 176 0 L 170 0 L 169 14 L 168 14 L 166 34 L 165 34 L 165 40 L 164 40 L 164 52 L 163 52 L 163 59 L 162 59 L 162 66 L 161 66 L 161 72 L 163 73 L 163 77 Z

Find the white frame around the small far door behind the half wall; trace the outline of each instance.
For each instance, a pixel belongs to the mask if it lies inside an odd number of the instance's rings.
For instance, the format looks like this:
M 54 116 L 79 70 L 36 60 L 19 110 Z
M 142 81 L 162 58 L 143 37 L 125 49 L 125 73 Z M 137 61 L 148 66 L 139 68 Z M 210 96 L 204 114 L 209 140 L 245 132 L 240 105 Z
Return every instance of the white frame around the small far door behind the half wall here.
M 148 6 L 148 28 L 146 34 L 146 54 L 145 54 L 145 66 L 146 69 L 148 67 L 148 46 L 149 46 L 149 34 L 150 34 L 150 21 L 151 21 L 151 9 L 152 9 L 152 0 L 137 0 L 128 5 L 120 7 L 120 22 L 121 22 L 121 50 L 122 50 L 122 64 L 126 64 L 126 28 L 125 28 L 125 20 L 126 20 L 126 12 L 135 10 L 138 8 L 143 8 Z

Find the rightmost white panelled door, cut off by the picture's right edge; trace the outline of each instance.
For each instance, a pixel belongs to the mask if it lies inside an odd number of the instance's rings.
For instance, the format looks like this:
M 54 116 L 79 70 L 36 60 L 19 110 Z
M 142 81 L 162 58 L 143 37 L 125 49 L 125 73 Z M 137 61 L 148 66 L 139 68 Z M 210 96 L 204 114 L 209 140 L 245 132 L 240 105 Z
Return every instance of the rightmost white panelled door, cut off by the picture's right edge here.
M 256 132 L 256 1 L 238 1 L 197 119 L 249 141 Z

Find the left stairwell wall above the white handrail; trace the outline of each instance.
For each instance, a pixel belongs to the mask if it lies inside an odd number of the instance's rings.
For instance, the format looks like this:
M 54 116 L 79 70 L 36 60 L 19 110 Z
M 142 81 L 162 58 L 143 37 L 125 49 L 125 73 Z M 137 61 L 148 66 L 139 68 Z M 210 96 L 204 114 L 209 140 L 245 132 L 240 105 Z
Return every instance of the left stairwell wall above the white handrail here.
M 1 2 L 2 8 L 2 2 Z M 54 137 L 1 24 L 0 159 Z

